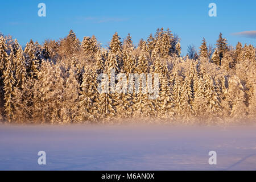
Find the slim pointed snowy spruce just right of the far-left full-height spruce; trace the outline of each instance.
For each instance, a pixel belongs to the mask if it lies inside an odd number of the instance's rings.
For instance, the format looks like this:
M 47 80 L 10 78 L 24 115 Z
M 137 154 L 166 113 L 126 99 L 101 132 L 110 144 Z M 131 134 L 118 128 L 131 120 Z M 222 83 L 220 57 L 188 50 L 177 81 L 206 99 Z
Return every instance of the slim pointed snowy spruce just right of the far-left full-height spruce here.
M 16 87 L 18 89 L 24 89 L 26 87 L 27 72 L 26 72 L 26 63 L 23 56 L 22 48 L 18 49 L 16 57 Z

